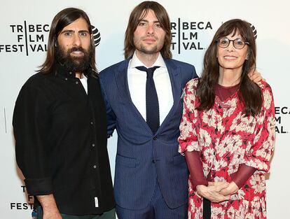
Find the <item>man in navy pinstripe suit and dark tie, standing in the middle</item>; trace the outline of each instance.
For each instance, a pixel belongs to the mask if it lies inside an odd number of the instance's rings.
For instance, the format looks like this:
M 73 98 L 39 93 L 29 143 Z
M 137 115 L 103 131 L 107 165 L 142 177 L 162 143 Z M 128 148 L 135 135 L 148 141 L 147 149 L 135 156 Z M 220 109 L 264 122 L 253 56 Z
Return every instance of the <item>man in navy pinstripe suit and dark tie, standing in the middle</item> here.
M 108 134 L 118 132 L 114 194 L 119 219 L 187 218 L 188 169 L 177 137 L 182 88 L 197 75 L 191 64 L 172 59 L 170 44 L 165 8 L 144 1 L 130 15 L 126 59 L 100 73 Z M 145 71 L 151 67 L 153 89 L 146 85 Z M 158 100 L 150 105 L 152 90 Z

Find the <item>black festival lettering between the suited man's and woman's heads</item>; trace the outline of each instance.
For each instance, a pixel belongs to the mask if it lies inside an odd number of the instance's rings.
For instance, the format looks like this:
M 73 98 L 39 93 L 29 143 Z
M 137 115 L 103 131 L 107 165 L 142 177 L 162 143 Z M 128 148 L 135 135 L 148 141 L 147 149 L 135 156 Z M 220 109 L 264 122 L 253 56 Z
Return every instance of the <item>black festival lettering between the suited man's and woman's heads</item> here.
M 178 54 L 184 50 L 205 50 L 199 34 L 202 31 L 212 30 L 209 21 L 182 21 L 179 17 L 177 22 L 171 22 L 172 50 L 177 50 Z

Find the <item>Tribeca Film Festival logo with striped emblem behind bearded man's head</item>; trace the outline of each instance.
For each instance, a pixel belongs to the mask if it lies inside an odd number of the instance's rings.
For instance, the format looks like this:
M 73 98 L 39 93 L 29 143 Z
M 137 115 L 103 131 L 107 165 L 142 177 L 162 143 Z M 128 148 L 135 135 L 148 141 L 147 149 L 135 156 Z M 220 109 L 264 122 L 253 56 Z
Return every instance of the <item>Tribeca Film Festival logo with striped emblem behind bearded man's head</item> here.
M 9 29 L 14 36 L 15 43 L 0 44 L 0 52 L 25 52 L 28 56 L 31 52 L 46 52 L 48 24 L 28 24 L 25 20 L 23 24 L 10 24 Z M 101 41 L 99 30 L 92 26 L 95 47 Z

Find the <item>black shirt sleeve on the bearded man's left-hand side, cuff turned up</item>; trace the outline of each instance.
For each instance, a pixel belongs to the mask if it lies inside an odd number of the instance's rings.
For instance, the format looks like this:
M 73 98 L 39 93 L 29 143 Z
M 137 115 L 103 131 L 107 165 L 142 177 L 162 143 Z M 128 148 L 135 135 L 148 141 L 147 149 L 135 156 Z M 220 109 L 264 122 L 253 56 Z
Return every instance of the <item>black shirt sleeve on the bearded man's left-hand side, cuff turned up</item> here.
M 46 146 L 50 116 L 48 101 L 41 90 L 25 84 L 20 90 L 13 113 L 15 153 L 18 167 L 25 176 L 29 195 L 49 195 L 53 183 Z

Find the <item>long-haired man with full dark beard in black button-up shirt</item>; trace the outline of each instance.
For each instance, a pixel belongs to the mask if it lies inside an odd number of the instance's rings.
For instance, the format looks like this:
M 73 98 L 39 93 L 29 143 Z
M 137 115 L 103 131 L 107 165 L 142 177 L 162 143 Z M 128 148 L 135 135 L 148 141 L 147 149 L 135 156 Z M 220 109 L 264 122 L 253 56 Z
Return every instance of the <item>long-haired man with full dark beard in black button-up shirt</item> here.
M 13 128 L 36 218 L 115 218 L 106 108 L 83 10 L 55 15 L 46 61 L 20 90 Z

